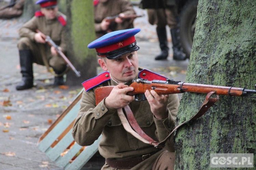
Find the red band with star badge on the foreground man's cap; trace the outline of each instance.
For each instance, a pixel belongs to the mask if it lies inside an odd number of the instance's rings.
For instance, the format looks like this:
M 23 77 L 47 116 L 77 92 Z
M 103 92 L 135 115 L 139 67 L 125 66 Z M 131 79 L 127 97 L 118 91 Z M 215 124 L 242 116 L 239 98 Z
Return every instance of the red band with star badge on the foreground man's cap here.
M 123 41 L 120 41 L 120 42 L 117 42 L 115 44 L 111 44 L 111 45 L 105 46 L 105 47 L 96 48 L 96 51 L 98 53 L 106 53 L 106 52 L 109 52 L 109 51 L 114 51 L 116 49 L 128 46 L 128 45 L 134 43 L 135 41 L 136 41 L 135 37 L 132 36 L 130 38 L 127 38 L 127 39 L 125 39 Z

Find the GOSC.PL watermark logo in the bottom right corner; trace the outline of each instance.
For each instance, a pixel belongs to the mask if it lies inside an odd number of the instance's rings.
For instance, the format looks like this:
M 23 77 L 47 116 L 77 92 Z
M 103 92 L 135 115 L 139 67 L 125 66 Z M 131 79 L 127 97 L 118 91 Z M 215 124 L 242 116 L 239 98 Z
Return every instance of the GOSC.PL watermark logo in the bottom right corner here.
M 253 168 L 253 153 L 211 153 L 211 168 Z

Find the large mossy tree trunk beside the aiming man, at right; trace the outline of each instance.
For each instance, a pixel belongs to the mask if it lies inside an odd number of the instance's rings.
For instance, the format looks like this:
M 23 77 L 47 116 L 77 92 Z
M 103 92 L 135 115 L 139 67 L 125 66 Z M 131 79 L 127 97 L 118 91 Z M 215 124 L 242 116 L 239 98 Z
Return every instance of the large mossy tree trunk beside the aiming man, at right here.
M 199 0 L 186 82 L 255 89 L 256 1 Z M 183 94 L 180 124 L 206 95 Z M 254 153 L 256 98 L 220 96 L 201 118 L 175 135 L 175 169 L 209 169 L 211 153 Z M 252 161 L 251 161 L 252 162 Z

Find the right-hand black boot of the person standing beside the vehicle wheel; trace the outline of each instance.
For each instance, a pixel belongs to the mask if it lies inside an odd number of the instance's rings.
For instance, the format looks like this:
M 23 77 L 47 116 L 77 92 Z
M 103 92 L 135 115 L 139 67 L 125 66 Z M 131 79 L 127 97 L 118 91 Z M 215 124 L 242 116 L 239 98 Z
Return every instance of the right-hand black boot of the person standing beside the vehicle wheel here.
M 171 29 L 171 37 L 172 37 L 173 60 L 186 60 L 186 55 L 182 51 L 176 28 Z

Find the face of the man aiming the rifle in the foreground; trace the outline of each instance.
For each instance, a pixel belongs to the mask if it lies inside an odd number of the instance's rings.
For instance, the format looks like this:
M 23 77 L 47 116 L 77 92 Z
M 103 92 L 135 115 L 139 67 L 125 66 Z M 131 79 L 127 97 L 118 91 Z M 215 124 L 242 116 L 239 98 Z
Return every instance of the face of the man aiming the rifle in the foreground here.
M 109 71 L 111 78 L 118 83 L 125 83 L 136 78 L 138 75 L 137 51 L 124 54 L 115 60 L 107 58 L 99 59 L 99 64 L 104 71 Z

